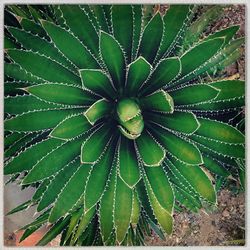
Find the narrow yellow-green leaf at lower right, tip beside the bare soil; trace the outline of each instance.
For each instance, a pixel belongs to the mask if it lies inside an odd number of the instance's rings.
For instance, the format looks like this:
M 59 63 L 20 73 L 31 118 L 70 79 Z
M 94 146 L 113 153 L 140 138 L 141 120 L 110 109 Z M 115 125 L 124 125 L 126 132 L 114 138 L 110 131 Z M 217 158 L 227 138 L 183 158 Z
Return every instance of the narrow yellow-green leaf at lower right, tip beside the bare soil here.
M 171 234 L 173 230 L 173 218 L 171 214 L 160 205 L 159 201 L 157 200 L 157 197 L 155 196 L 152 188 L 150 187 L 146 176 L 144 176 L 144 183 L 146 186 L 150 205 L 158 223 L 167 234 Z

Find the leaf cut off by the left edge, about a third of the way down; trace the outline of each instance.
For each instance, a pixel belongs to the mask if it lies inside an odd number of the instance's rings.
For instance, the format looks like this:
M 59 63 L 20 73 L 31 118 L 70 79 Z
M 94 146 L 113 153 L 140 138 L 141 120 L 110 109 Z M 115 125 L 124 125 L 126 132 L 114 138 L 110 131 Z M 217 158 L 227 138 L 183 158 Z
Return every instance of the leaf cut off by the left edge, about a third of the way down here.
M 39 79 L 31 75 L 30 73 L 22 69 L 19 65 L 14 63 L 4 64 L 4 75 L 14 78 L 17 81 L 30 82 L 33 84 L 44 82 L 43 79 Z

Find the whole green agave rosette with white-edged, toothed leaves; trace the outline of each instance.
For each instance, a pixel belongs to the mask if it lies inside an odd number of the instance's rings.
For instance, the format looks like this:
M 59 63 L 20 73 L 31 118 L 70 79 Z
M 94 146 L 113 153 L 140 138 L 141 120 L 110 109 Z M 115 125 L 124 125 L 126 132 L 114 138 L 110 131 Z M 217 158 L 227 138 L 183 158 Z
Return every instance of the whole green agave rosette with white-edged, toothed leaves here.
M 244 38 L 203 35 L 221 11 L 6 6 L 4 173 L 36 188 L 9 214 L 38 212 L 21 240 L 50 223 L 38 245 L 144 244 L 243 176 L 244 134 L 221 114 L 242 110 L 244 81 L 216 72 Z

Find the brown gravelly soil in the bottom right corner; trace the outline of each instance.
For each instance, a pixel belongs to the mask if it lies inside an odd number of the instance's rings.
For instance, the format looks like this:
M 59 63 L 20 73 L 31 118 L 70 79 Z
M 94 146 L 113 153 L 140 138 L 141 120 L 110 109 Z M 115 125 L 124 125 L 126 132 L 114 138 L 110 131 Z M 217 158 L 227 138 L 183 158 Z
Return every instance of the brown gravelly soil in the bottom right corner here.
M 245 198 L 228 190 L 218 194 L 215 212 L 181 212 L 174 214 L 174 231 L 166 240 L 148 237 L 150 246 L 225 246 L 243 245 L 245 238 Z

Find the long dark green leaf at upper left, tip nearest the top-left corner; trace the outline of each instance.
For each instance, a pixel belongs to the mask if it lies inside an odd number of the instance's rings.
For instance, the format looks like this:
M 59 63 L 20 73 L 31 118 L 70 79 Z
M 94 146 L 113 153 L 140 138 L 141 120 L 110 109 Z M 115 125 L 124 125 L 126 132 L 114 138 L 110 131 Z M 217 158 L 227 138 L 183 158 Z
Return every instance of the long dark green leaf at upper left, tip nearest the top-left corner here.
M 63 64 L 71 71 L 76 71 L 76 68 L 72 66 L 72 64 L 57 50 L 57 48 L 44 38 L 40 38 L 39 36 L 33 35 L 30 32 L 16 28 L 10 28 L 9 31 L 27 50 L 43 54 Z

